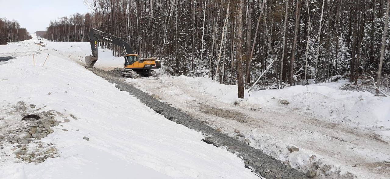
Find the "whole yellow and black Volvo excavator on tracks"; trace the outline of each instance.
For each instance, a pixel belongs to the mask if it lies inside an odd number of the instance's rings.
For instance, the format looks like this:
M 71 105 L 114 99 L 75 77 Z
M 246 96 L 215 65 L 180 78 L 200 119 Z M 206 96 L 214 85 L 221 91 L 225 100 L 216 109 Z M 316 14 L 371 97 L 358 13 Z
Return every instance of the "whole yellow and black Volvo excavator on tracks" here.
M 96 31 L 102 33 L 103 35 L 96 33 Z M 131 49 L 128 43 L 109 33 L 105 33 L 97 29 L 91 29 L 89 32 L 89 38 L 92 55 L 85 57 L 85 64 L 87 64 L 88 68 L 92 68 L 97 61 L 97 40 L 104 40 L 124 49 L 126 55 L 124 55 L 124 70 L 121 71 L 122 76 L 129 78 L 137 78 L 139 76 L 157 76 L 156 71 L 151 69 L 161 68 L 160 60 L 154 57 L 140 60 L 138 54 L 133 52 L 133 49 Z

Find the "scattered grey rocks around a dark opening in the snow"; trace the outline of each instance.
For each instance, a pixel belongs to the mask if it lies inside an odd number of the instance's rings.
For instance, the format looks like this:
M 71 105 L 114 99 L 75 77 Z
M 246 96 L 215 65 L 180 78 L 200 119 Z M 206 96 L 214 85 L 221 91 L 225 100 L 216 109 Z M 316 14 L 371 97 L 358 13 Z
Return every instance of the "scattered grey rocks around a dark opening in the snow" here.
M 4 107 L 4 106 L 3 106 Z M 64 122 L 66 116 L 54 110 L 44 111 L 34 104 L 18 102 L 0 122 L 0 158 L 15 155 L 17 163 L 41 163 L 47 158 L 58 157 L 57 148 L 51 143 L 44 143 L 42 138 L 53 133 L 54 126 Z M 45 108 L 44 106 L 43 108 Z M 34 115 L 31 115 L 31 114 Z M 22 118 L 26 116 L 25 118 Z M 71 115 L 73 119 L 77 119 Z

